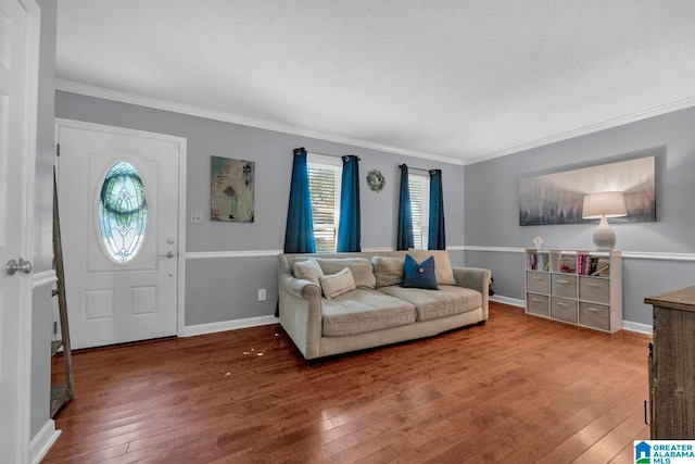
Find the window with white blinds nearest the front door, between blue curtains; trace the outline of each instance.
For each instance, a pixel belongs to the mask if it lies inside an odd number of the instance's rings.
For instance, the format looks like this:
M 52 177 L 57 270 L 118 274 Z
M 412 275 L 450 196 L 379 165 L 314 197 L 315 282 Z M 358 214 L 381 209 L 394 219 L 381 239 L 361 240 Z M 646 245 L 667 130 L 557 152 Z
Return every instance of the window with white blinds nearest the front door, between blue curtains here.
M 340 218 L 342 159 L 307 153 L 308 190 L 317 253 L 334 253 Z

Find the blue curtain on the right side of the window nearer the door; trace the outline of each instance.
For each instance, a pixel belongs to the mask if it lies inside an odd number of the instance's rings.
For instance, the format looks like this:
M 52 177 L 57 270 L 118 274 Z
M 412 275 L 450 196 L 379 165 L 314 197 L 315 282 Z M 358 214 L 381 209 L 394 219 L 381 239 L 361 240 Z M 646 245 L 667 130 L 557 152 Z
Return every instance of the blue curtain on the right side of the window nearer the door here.
M 351 154 L 343 156 L 337 251 L 362 251 L 359 230 L 359 159 Z

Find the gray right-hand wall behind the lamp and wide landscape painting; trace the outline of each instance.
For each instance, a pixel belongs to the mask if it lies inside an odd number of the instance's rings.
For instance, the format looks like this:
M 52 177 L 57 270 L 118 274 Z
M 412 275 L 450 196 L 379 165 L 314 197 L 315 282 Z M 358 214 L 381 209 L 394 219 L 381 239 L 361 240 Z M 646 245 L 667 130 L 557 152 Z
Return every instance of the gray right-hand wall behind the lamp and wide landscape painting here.
M 614 224 L 616 249 L 657 259 L 623 259 L 623 319 L 652 325 L 645 297 L 693 285 L 695 263 L 695 109 L 470 164 L 465 172 L 467 265 L 493 271 L 500 296 L 523 299 L 523 255 L 495 248 L 593 248 L 595 225 L 519 226 L 519 179 L 656 153 L 657 222 Z

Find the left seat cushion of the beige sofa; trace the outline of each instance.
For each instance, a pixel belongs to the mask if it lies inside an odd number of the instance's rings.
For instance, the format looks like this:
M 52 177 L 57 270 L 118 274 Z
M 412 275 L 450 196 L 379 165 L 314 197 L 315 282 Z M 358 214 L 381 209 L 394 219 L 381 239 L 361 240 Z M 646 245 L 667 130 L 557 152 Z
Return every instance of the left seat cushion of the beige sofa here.
M 364 334 L 413 324 L 416 319 L 410 303 L 379 290 L 357 289 L 321 303 L 326 337 Z

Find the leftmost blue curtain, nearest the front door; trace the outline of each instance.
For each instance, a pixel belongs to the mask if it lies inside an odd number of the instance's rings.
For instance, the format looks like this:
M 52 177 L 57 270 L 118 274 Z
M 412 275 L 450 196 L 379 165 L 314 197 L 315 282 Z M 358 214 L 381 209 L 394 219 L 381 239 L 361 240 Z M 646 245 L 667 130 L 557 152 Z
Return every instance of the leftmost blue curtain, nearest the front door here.
M 294 149 L 290 204 L 285 229 L 286 253 L 315 253 L 314 220 L 308 191 L 308 166 L 304 147 Z

